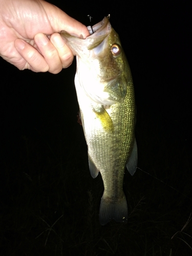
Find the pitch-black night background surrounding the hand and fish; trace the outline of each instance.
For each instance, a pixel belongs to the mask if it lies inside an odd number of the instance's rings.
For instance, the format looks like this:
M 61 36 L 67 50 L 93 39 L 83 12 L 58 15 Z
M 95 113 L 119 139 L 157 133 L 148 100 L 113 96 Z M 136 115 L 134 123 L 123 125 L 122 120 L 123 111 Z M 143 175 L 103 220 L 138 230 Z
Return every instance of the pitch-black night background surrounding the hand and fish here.
M 140 169 L 124 176 L 128 223 L 101 226 L 103 185 L 77 123 L 75 60 L 53 75 L 1 58 L 0 254 L 192 255 L 189 6 L 50 2 L 87 26 L 88 14 L 93 25 L 111 14 L 134 79 Z

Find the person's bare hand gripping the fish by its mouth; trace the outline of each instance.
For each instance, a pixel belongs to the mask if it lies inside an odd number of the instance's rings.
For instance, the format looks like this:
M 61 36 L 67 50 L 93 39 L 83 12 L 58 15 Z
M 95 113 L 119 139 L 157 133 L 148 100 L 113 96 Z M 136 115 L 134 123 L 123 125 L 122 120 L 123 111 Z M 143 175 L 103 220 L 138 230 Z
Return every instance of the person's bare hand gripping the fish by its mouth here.
M 59 32 L 86 38 L 86 26 L 42 0 L 0 0 L 0 56 L 19 70 L 57 74 L 73 61 Z

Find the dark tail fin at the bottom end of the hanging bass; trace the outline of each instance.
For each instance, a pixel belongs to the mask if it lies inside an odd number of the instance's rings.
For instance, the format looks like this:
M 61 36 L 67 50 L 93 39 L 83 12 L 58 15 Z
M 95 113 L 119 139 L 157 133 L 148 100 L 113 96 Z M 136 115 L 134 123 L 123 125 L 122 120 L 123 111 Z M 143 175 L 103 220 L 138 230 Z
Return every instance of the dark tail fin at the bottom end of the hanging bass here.
M 125 195 L 118 200 L 101 198 L 101 204 L 99 209 L 99 221 L 101 225 L 105 225 L 111 220 L 116 222 L 127 222 L 128 209 Z

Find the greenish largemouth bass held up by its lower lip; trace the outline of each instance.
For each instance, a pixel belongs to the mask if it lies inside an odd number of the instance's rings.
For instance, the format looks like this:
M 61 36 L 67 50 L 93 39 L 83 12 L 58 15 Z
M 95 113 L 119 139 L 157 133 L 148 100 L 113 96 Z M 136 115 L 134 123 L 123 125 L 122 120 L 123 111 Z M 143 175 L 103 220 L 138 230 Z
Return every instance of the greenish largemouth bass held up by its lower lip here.
M 60 34 L 76 55 L 75 88 L 90 173 L 96 178 L 100 172 L 103 181 L 100 224 L 127 223 L 124 172 L 126 167 L 133 176 L 137 168 L 132 74 L 109 16 L 88 29 L 87 38 Z

